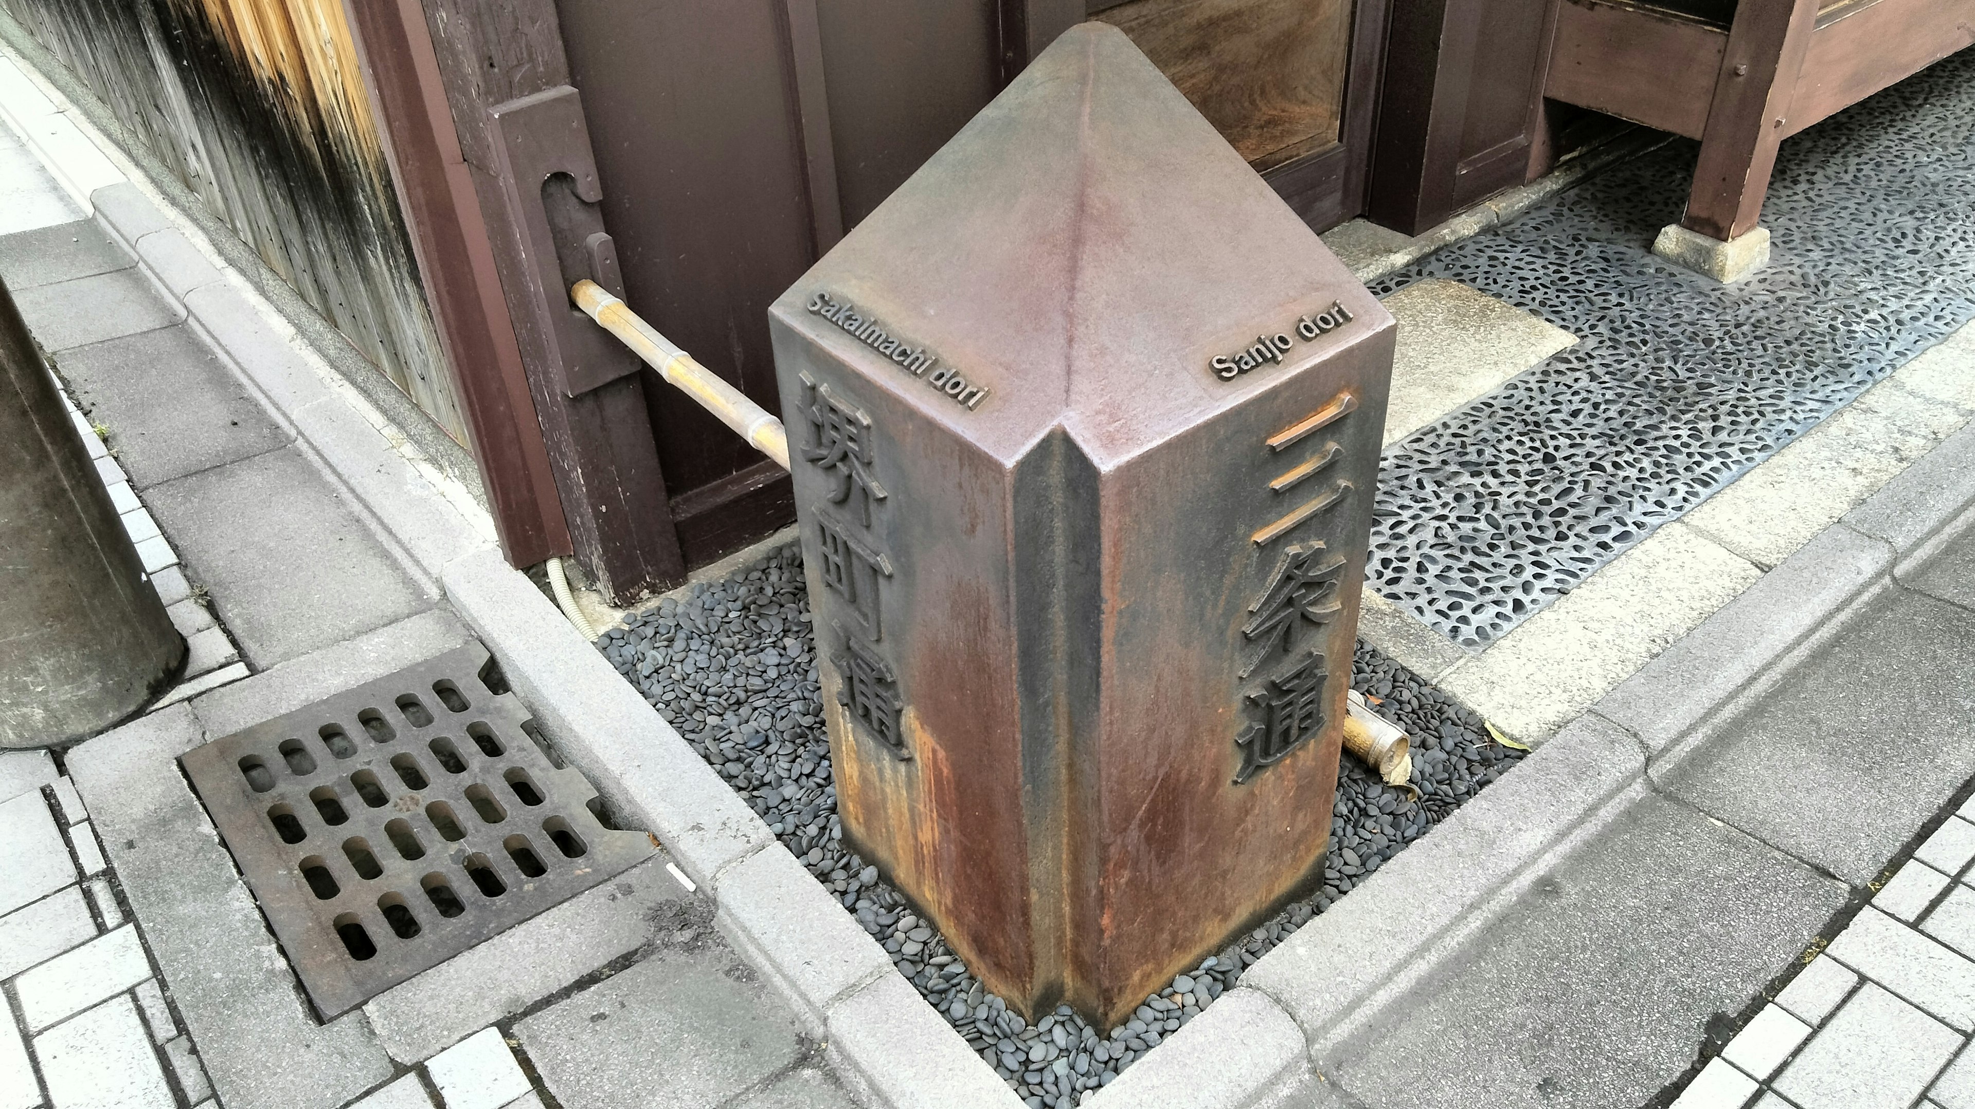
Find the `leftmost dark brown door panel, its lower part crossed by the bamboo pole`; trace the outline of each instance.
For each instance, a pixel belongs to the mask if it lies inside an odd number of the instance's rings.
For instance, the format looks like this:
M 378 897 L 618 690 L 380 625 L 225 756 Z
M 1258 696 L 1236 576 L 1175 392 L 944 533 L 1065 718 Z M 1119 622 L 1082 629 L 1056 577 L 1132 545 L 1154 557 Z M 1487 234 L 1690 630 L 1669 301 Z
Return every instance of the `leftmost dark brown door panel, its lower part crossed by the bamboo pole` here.
M 812 261 L 782 0 L 579 0 L 559 14 L 626 300 L 774 409 L 768 304 Z M 646 405 L 672 498 L 760 461 L 656 376 Z

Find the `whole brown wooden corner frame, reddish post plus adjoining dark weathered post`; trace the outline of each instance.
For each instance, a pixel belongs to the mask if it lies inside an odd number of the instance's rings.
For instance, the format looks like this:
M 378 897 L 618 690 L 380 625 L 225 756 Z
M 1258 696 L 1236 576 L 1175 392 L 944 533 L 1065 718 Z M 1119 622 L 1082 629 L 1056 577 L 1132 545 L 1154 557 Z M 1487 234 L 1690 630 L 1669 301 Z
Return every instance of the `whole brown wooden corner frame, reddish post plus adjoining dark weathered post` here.
M 683 581 L 640 376 L 571 395 L 523 326 L 543 304 L 494 109 L 569 83 L 553 0 L 344 2 L 508 561 L 573 554 L 620 605 Z

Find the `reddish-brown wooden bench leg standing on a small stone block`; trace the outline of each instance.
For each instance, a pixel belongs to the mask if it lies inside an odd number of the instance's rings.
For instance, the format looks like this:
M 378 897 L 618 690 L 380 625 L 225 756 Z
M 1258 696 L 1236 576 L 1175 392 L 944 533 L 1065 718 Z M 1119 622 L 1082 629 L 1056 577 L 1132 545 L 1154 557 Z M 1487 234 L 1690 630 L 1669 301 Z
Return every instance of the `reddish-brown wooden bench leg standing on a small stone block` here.
M 1681 217 L 1689 231 L 1726 243 L 1756 227 L 1815 28 L 1817 0 L 1742 0 L 1736 8 Z

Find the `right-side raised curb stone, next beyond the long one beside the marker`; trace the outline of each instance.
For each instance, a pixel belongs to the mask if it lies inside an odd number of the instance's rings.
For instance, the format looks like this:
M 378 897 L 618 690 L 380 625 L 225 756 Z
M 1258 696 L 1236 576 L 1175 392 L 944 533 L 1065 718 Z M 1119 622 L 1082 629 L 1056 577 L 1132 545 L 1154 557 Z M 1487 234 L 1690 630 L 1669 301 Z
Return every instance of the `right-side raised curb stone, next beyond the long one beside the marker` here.
M 1890 565 L 1884 542 L 1833 524 L 1606 694 L 1592 712 L 1637 735 L 1657 757 L 1831 625 Z

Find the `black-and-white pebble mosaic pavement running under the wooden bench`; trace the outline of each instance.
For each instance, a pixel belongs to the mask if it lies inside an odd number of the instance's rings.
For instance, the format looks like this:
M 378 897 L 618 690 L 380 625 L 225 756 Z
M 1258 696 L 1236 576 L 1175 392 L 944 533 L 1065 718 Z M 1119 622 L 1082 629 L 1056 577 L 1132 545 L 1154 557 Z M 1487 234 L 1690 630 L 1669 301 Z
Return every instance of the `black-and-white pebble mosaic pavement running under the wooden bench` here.
M 1651 253 L 1695 152 L 1669 142 L 1373 285 L 1462 281 L 1584 336 L 1384 455 L 1367 577 L 1462 646 L 1975 316 L 1975 51 L 1783 142 L 1748 281 Z

